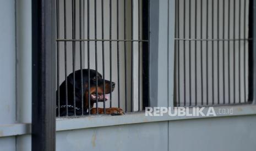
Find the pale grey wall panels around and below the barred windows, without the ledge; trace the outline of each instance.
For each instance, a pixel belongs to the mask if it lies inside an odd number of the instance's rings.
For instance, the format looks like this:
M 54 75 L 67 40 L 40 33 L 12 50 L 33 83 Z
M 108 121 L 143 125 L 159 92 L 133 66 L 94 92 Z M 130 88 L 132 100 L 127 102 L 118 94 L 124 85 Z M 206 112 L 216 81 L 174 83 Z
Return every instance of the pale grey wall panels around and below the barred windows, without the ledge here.
M 31 150 L 29 132 L 21 136 L 2 137 L 5 132 L 2 131 L 2 127 L 14 123 L 31 122 L 31 2 L 29 0 L 19 1 L 16 6 L 15 10 L 15 1 L 0 1 L 0 150 L 27 151 Z M 173 1 L 168 3 L 167 0 L 159 2 L 152 0 L 150 7 L 154 10 L 150 14 L 151 36 L 154 35 L 151 37 L 151 42 L 154 42 L 151 44 L 151 51 L 156 56 L 156 58 L 151 56 L 151 65 L 154 65 L 156 69 L 155 72 L 151 70 L 150 73 L 151 80 L 156 81 L 151 83 L 151 87 L 156 88 L 150 89 L 153 92 L 151 103 L 154 102 L 153 106 L 168 106 L 173 103 L 173 81 L 167 80 L 173 79 L 173 74 L 171 74 L 173 73 L 173 26 L 170 24 L 171 16 L 173 16 L 171 9 Z M 16 19 L 15 11 L 17 11 Z M 17 43 L 15 43 L 15 38 Z M 19 69 L 15 70 L 15 67 Z M 21 83 L 15 84 L 15 81 L 20 80 Z M 19 97 L 15 98 L 15 96 Z M 16 106 L 16 101 L 18 106 Z M 90 118 L 84 120 L 88 123 L 94 121 Z M 125 116 L 123 116 L 123 121 L 126 121 Z M 57 131 L 57 150 L 233 151 L 255 150 L 256 148 L 255 114 L 141 122 L 143 123 Z

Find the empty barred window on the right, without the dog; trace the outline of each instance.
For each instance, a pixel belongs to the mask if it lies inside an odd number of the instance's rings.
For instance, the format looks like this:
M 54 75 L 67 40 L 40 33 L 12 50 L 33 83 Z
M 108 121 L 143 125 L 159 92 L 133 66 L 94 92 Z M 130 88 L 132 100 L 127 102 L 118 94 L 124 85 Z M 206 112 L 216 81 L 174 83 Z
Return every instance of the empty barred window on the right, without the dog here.
M 175 2 L 175 106 L 252 101 L 252 1 Z

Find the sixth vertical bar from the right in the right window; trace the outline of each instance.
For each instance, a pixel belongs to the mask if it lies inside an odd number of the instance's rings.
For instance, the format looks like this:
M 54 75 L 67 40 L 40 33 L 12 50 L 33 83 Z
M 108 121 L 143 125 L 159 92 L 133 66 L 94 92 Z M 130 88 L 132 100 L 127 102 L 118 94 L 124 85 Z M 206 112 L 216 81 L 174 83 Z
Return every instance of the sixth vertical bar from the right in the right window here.
M 219 0 L 217 0 L 217 39 L 220 39 L 220 33 L 219 33 L 219 25 L 220 25 L 220 16 L 219 16 Z M 220 59 L 219 59 L 219 54 L 220 54 L 220 48 L 219 48 L 219 40 L 217 40 L 217 94 L 218 94 L 218 100 L 217 100 L 217 104 L 220 104 Z

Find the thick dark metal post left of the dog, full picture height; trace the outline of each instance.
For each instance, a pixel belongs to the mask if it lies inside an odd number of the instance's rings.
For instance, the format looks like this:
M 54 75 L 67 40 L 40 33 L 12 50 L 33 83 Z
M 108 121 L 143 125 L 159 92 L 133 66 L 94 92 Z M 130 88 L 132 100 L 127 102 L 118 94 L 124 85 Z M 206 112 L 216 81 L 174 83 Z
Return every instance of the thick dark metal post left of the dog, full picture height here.
M 56 2 L 32 1 L 31 150 L 56 149 Z

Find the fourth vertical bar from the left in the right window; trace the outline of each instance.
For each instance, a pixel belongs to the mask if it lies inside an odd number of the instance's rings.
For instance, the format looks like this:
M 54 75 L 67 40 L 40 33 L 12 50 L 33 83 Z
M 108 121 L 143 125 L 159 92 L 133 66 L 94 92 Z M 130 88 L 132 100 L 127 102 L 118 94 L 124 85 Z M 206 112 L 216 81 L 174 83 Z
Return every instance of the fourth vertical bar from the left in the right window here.
M 195 39 L 197 38 L 197 0 L 195 0 Z M 197 106 L 197 41 L 195 41 L 195 106 Z

